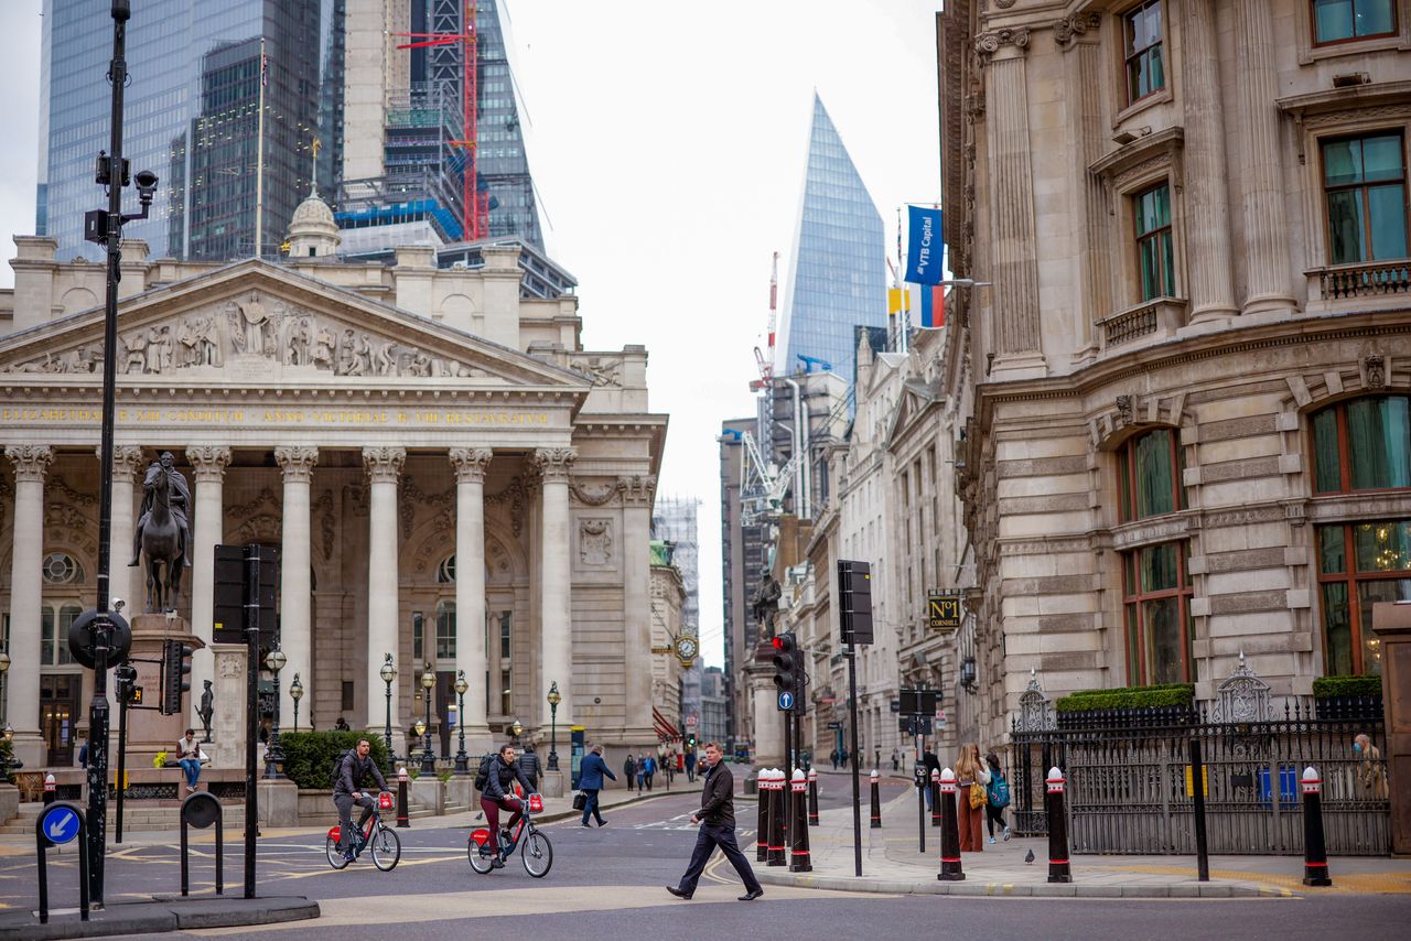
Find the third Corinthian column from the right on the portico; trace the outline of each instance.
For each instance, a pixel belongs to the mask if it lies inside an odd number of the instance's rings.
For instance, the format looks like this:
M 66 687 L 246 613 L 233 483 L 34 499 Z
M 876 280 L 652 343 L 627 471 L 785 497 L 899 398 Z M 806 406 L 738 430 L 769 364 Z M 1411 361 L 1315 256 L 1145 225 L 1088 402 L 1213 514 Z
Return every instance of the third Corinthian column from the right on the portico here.
M 420 663 L 402 663 L 398 656 L 398 598 L 396 598 L 396 480 L 406 463 L 402 447 L 364 447 L 363 467 L 367 470 L 368 487 L 368 540 L 367 540 L 367 728 L 382 734 L 387 728 L 387 700 L 375 693 L 384 691 L 384 655 L 391 653 L 396 662 L 399 677 L 419 676 Z M 409 673 L 411 670 L 411 673 Z M 292 676 L 292 674 L 291 674 Z M 398 728 L 398 698 L 401 683 L 392 684 L 392 727 Z M 396 741 L 394 734 L 392 741 Z

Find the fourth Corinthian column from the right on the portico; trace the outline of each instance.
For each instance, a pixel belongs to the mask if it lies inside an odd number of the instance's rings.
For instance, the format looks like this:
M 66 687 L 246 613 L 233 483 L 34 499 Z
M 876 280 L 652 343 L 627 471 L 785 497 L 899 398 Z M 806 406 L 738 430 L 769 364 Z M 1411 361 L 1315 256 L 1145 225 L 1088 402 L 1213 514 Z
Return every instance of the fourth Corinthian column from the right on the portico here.
M 313 708 L 313 585 L 310 567 L 309 481 L 319 463 L 316 447 L 277 447 L 274 459 L 284 468 L 284 532 L 279 566 L 279 649 L 288 657 L 279 670 L 279 728 L 293 728 L 289 684 L 303 684 L 305 720 Z M 395 552 L 395 546 L 394 546 Z M 395 584 L 395 583 L 394 583 Z M 370 687 L 371 688 L 371 687 Z M 308 722 L 305 722 L 308 725 Z

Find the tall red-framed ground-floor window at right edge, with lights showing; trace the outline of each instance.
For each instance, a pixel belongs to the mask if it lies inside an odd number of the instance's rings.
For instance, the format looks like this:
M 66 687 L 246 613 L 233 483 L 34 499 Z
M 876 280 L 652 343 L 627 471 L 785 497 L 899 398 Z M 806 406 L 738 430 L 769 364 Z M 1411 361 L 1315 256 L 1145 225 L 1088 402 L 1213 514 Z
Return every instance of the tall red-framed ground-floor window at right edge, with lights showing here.
M 1324 673 L 1381 673 L 1371 605 L 1411 600 L 1411 519 L 1318 526 Z

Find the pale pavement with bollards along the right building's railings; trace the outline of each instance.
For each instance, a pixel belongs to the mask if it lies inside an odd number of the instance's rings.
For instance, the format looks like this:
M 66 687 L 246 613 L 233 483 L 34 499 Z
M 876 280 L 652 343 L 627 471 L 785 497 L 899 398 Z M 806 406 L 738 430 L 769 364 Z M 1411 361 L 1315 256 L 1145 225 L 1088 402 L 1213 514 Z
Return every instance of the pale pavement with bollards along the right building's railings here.
M 844 775 L 820 775 L 821 787 L 844 787 Z M 1211 880 L 1197 879 L 1194 856 L 1081 856 L 1071 858 L 1072 882 L 1048 882 L 1047 838 L 986 844 L 982 852 L 962 855 L 964 882 L 940 882 L 941 830 L 926 815 L 926 854 L 917 851 L 917 800 L 907 789 L 882 808 L 882 828 L 869 827 L 866 791 L 862 807 L 862 878 L 854 869 L 852 808 L 820 814 L 811 827 L 813 872 L 756 863 L 759 880 L 772 885 L 852 892 L 1046 896 L 1099 899 L 1229 899 L 1295 897 L 1346 893 L 1411 893 L 1411 861 L 1386 856 L 1335 856 L 1329 861 L 1333 885 L 1302 885 L 1302 856 L 1211 856 Z M 752 821 L 751 821 L 752 822 Z M 998 834 L 996 834 L 998 837 Z M 1033 851 L 1034 862 L 1024 863 Z M 746 855 L 753 854 L 751 848 Z

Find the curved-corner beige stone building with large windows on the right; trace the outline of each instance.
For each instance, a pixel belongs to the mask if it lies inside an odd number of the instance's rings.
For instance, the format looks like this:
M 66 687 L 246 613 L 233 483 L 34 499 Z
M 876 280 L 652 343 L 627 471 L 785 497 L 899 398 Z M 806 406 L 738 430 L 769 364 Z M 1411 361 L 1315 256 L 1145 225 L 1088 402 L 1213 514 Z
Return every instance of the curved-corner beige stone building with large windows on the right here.
M 1046 690 L 1379 672 L 1411 597 L 1411 4 L 937 17 L 982 732 Z M 967 385 L 951 370 L 948 395 Z

